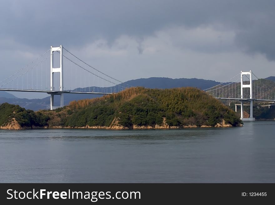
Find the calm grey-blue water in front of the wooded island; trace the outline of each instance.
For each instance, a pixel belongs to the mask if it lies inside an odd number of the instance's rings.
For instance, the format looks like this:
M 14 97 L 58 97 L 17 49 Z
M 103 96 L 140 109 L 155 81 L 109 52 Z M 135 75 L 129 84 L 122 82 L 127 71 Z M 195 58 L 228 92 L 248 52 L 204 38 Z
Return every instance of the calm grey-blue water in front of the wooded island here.
M 274 183 L 274 125 L 0 130 L 0 182 Z

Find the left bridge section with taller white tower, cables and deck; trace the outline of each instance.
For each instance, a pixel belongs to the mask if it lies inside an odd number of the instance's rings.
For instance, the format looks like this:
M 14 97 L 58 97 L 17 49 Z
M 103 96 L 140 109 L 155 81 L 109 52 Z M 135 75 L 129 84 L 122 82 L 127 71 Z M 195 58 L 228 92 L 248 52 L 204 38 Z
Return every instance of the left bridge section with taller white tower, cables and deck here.
M 0 84 L 0 91 L 49 94 L 51 110 L 64 106 L 64 93 L 113 94 L 133 87 L 99 71 L 62 45 L 51 46 L 27 66 L 1 80 Z M 60 96 L 58 106 L 54 104 L 56 95 Z

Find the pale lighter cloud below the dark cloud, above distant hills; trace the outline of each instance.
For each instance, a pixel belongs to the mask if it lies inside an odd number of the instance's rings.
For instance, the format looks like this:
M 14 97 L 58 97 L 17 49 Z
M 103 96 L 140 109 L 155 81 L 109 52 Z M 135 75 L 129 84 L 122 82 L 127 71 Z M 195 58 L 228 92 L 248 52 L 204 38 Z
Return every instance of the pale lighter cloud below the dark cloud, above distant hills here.
M 212 27 L 177 26 L 159 30 L 143 40 L 124 35 L 112 45 L 102 39 L 77 50 L 68 49 L 122 81 L 151 76 L 222 81 L 240 70 L 251 69 L 258 77 L 266 77 L 262 69 L 271 71 L 275 62 L 267 61 L 262 54 L 251 56 L 239 51 L 234 38 L 233 32 Z

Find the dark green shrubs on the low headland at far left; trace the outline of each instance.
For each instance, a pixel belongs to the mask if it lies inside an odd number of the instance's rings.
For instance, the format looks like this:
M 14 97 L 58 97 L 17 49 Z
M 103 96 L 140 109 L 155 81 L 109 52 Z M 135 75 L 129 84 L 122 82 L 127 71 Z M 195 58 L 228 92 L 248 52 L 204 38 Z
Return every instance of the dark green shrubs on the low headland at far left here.
M 49 120 L 49 116 L 41 112 L 33 112 L 26 110 L 19 105 L 11 105 L 3 103 L 0 105 L 0 126 L 4 126 L 11 122 L 12 118 L 18 122 L 22 127 L 45 126 Z

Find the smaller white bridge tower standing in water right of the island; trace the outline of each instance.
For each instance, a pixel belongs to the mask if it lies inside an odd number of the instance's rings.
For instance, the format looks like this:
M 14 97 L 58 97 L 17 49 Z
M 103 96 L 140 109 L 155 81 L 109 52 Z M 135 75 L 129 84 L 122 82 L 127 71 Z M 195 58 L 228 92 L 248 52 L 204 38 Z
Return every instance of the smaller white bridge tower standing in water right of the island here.
M 248 85 L 243 85 L 243 76 L 249 75 L 249 84 Z M 250 96 L 248 98 L 244 98 L 243 95 L 243 88 L 249 88 L 250 90 Z M 243 121 L 254 121 L 255 118 L 253 118 L 253 96 L 252 96 L 252 71 L 250 70 L 249 72 L 243 72 L 241 71 L 241 120 Z M 249 118 L 244 118 L 243 117 L 243 101 L 250 101 L 250 116 Z

